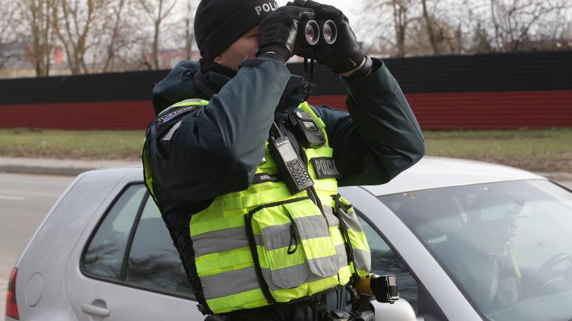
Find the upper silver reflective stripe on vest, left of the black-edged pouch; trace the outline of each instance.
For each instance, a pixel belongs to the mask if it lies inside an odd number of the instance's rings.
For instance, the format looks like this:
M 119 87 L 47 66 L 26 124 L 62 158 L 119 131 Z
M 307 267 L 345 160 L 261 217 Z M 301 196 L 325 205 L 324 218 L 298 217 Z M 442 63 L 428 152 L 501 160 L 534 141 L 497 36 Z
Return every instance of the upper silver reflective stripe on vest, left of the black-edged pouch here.
M 192 249 L 195 250 L 195 257 L 248 246 L 248 239 L 246 238 L 246 232 L 243 227 L 215 230 L 196 235 L 191 237 L 191 239 Z

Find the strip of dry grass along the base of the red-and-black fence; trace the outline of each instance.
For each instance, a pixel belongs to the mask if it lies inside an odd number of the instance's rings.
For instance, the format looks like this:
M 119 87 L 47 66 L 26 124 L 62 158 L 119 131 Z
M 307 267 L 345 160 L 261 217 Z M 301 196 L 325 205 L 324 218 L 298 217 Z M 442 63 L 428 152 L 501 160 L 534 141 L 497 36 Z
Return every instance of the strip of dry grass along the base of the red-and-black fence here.
M 427 154 L 572 172 L 572 129 L 425 132 Z M 0 156 L 137 159 L 144 131 L 0 129 Z

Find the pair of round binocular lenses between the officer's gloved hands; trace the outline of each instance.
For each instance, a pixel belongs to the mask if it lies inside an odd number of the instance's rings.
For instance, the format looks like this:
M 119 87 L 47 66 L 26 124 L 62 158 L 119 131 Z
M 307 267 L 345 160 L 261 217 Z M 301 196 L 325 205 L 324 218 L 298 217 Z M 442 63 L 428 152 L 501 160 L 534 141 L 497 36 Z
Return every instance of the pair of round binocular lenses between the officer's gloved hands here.
M 298 29 L 298 41 L 303 46 L 331 45 L 338 38 L 338 27 L 331 20 L 303 20 Z

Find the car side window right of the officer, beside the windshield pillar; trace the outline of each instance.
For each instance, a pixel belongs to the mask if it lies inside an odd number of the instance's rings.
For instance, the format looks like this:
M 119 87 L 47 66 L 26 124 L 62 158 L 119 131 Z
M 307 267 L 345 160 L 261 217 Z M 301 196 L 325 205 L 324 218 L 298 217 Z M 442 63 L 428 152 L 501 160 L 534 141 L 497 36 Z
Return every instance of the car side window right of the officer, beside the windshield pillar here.
M 388 246 L 386 241 L 360 217 L 360 223 L 371 250 L 371 272 L 377 275 L 393 274 L 397 278 L 399 296 L 407 300 L 417 313 L 418 285 L 401 259 Z

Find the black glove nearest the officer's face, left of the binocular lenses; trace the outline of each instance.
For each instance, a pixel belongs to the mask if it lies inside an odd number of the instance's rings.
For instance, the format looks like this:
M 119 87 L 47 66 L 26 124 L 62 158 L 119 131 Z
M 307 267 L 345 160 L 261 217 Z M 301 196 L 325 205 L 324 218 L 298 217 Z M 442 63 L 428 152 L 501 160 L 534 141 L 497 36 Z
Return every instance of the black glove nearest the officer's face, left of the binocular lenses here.
M 260 23 L 259 51 L 256 52 L 256 56 L 274 51 L 284 59 L 284 62 L 294 56 L 298 25 L 303 17 L 314 19 L 314 10 L 285 6 L 266 16 Z

